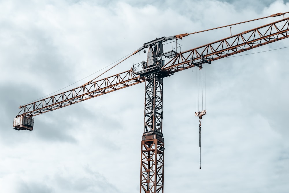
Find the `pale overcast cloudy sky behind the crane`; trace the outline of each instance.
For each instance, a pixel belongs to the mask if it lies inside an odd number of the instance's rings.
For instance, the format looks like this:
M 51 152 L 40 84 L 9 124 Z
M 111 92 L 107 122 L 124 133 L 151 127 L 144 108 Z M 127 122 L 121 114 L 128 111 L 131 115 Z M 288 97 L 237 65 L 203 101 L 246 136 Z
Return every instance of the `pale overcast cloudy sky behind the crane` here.
M 37 115 L 33 131 L 12 129 L 19 105 L 78 87 L 156 37 L 288 12 L 289 2 L 12 0 L 0 8 L 0 192 L 130 193 L 139 192 L 144 84 Z M 278 19 L 233 26 L 232 34 Z M 184 51 L 228 36 L 226 27 L 178 43 Z M 206 66 L 201 170 L 197 69 L 164 79 L 164 192 L 288 192 L 288 45 Z

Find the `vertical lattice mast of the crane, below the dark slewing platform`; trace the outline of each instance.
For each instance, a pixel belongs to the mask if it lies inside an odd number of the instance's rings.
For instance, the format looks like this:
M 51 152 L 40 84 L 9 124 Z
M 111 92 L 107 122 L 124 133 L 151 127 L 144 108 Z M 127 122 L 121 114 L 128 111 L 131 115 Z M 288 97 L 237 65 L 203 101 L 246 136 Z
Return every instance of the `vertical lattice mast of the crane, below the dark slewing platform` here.
M 140 193 L 163 193 L 164 139 L 162 138 L 163 78 L 146 76 L 144 135 L 142 136 Z

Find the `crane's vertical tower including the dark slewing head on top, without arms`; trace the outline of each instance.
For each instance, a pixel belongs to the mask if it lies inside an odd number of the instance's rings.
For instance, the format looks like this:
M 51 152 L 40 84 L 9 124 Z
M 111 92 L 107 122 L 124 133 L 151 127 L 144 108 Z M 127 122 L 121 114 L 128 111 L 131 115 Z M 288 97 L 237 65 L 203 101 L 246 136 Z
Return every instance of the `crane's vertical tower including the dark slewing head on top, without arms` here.
M 138 72 L 145 77 L 144 133 L 141 142 L 140 192 L 163 192 L 164 181 L 164 138 L 163 118 L 163 77 L 161 68 L 163 44 L 149 46 L 147 61 L 142 62 Z

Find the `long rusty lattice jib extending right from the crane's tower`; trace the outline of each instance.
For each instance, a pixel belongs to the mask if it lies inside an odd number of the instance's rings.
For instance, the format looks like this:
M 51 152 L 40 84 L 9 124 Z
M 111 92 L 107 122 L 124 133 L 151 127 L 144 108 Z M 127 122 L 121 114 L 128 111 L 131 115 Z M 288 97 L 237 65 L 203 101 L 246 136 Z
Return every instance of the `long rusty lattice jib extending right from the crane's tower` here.
M 171 74 L 289 37 L 289 17 L 180 52 L 162 67 Z

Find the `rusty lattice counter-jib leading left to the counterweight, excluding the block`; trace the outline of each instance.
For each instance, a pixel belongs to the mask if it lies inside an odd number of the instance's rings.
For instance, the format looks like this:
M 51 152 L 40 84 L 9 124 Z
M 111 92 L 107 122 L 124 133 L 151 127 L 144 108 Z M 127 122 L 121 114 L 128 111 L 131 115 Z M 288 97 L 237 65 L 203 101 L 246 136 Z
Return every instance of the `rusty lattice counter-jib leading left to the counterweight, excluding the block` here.
M 114 76 L 97 80 L 95 82 L 86 83 L 69 91 L 20 106 L 19 108 L 21 108 L 21 111 L 16 117 L 21 117 L 24 115 L 32 117 L 144 81 L 145 78 L 141 78 L 140 76 L 135 75 L 132 70 L 128 70 Z

